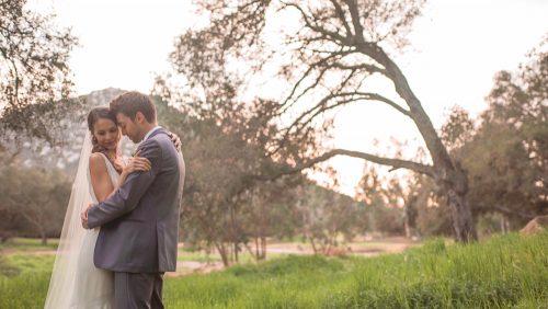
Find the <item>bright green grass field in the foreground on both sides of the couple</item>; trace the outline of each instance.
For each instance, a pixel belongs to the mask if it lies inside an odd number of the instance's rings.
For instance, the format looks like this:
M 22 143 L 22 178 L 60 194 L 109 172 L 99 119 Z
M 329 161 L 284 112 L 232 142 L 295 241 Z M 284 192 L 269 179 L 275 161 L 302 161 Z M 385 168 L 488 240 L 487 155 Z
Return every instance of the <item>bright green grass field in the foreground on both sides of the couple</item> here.
M 0 308 L 42 308 L 53 256 L 0 258 Z M 548 308 L 548 233 L 433 240 L 378 258 L 288 256 L 167 278 L 167 308 Z

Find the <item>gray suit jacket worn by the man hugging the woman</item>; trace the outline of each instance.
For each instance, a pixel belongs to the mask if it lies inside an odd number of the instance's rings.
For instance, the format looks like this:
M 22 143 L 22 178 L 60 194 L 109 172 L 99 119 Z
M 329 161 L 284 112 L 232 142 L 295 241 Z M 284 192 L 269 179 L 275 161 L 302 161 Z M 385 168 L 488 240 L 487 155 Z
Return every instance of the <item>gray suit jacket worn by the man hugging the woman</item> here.
M 185 167 L 162 128 L 139 146 L 148 172 L 128 175 L 119 190 L 88 211 L 88 226 L 101 226 L 93 262 L 125 273 L 173 272 Z

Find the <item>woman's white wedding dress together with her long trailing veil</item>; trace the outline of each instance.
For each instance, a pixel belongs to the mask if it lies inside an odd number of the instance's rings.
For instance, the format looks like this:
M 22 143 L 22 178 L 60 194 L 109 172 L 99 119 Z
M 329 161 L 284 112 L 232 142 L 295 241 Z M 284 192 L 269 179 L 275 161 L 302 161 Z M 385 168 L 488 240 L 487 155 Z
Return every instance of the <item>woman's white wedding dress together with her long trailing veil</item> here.
M 89 203 L 98 203 L 90 181 L 90 154 L 91 141 L 88 134 L 62 225 L 44 307 L 47 309 L 114 308 L 114 276 L 111 272 L 96 268 L 93 264 L 99 228 L 87 230 L 80 222 L 80 214 Z M 111 181 L 116 186 L 119 175 L 106 157 L 102 156 Z

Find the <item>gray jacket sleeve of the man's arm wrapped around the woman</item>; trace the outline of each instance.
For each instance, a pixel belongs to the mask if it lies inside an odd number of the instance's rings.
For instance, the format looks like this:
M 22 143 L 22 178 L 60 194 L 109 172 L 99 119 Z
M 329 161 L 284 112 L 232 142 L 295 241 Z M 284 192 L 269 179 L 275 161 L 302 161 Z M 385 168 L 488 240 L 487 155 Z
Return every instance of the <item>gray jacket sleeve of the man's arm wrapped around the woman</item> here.
M 151 140 L 147 145 L 142 145 L 140 151 L 139 156 L 150 161 L 150 171 L 129 174 L 116 193 L 90 208 L 88 211 L 88 227 L 90 229 L 107 224 L 135 209 L 139 199 L 155 181 L 161 169 L 162 149 L 156 140 Z

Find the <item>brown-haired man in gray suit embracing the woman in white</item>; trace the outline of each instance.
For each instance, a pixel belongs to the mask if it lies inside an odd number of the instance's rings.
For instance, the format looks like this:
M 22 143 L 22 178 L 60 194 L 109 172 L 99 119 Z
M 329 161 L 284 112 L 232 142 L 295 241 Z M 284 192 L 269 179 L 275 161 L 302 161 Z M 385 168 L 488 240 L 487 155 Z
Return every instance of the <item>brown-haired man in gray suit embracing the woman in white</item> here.
M 163 308 L 162 275 L 176 266 L 183 157 L 158 126 L 148 95 L 126 92 L 110 107 L 151 169 L 129 174 L 114 195 L 82 213 L 82 225 L 101 227 L 93 262 L 114 272 L 115 308 Z

